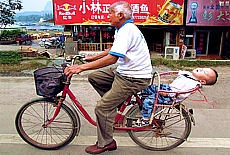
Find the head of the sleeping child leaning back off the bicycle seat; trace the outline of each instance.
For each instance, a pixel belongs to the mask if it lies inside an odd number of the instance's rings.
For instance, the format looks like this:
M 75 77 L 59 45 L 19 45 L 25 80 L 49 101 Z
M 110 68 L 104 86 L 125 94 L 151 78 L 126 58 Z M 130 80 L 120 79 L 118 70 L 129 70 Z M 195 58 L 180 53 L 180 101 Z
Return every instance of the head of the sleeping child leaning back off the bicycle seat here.
M 192 76 L 201 84 L 214 85 L 218 78 L 218 73 L 212 68 L 196 68 L 192 71 Z

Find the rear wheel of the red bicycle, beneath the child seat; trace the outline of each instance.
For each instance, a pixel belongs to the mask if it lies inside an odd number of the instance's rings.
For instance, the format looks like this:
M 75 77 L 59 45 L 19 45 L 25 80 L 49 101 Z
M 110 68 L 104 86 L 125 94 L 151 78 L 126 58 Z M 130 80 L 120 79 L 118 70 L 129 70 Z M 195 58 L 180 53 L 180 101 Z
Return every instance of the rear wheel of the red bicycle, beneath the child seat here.
M 126 114 L 126 123 L 135 127 L 138 118 L 141 118 L 138 105 L 133 106 Z M 188 113 L 179 106 L 165 108 L 153 121 L 153 125 L 142 127 L 140 131 L 129 130 L 128 134 L 139 146 L 152 151 L 166 151 L 182 144 L 191 132 L 191 120 Z M 145 130 L 146 129 L 146 130 Z

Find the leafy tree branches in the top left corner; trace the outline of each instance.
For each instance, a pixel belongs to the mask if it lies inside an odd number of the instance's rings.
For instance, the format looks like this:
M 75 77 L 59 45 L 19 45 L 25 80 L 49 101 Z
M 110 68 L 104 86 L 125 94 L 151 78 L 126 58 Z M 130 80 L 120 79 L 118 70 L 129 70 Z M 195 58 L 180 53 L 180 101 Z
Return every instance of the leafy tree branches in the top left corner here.
M 7 24 L 14 24 L 16 10 L 22 9 L 21 0 L 5 0 L 0 2 L 0 28 L 5 28 Z

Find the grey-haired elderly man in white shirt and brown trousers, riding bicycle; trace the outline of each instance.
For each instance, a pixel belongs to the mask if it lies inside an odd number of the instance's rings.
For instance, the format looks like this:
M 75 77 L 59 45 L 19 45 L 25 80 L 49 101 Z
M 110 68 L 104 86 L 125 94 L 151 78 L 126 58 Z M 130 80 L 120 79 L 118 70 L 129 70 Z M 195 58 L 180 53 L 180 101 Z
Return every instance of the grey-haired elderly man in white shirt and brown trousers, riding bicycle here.
M 118 66 L 96 70 L 88 75 L 89 82 L 100 94 L 95 114 L 97 142 L 86 148 L 90 154 L 116 150 L 113 139 L 113 121 L 117 107 L 129 96 L 146 88 L 151 80 L 152 65 L 148 46 L 141 31 L 134 25 L 129 3 L 119 1 L 109 8 L 109 20 L 116 28 L 111 49 L 86 57 L 87 64 L 73 65 L 65 69 L 70 78 L 85 70 L 99 69 L 117 63 Z

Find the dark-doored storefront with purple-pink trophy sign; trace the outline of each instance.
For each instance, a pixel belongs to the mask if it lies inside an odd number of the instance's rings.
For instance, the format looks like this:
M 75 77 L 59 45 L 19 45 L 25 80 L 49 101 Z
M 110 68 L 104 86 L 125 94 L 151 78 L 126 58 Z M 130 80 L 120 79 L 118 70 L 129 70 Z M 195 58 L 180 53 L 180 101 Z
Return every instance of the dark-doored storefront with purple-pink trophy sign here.
M 188 0 L 185 45 L 197 56 L 229 58 L 229 26 L 228 0 Z

